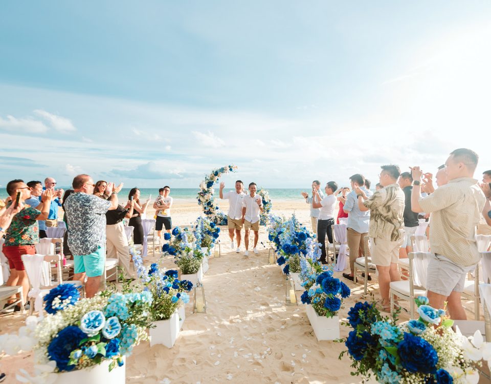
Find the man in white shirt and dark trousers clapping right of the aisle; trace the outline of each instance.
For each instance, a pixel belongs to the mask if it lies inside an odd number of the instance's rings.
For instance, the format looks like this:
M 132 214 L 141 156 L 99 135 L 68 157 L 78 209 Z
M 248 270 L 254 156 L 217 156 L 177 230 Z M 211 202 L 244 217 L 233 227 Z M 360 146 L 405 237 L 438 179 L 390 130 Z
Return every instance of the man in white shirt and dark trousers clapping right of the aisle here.
M 336 209 L 336 203 L 338 199 L 334 196 L 334 191 L 338 189 L 338 184 L 335 181 L 329 181 L 326 184 L 325 192 L 326 197 L 320 199 L 319 192 L 314 189 L 314 201 L 312 206 L 314 208 L 321 208 L 319 211 L 319 220 L 317 221 L 317 239 L 321 243 L 321 258 L 319 261 L 322 264 L 327 264 L 327 252 L 326 252 L 326 233 L 327 240 L 332 244 L 332 229 L 334 225 L 334 209 Z

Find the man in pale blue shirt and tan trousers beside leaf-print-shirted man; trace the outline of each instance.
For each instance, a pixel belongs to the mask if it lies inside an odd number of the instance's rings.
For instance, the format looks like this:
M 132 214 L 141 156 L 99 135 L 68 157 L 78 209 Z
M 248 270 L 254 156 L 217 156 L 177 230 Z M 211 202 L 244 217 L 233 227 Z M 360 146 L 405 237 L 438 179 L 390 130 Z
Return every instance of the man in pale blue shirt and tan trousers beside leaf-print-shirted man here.
M 348 280 L 354 280 L 354 262 L 359 257 L 359 249 L 362 254 L 370 256 L 370 249 L 365 249 L 365 236 L 368 236 L 368 225 L 370 221 L 370 211 L 361 211 L 358 207 L 358 197 L 356 196 L 356 187 L 360 187 L 365 196 L 372 196 L 372 192 L 366 188 L 365 178 L 363 175 L 355 174 L 349 178 L 351 182 L 351 192 L 346 196 L 346 203 L 343 210 L 348 215 L 347 242 L 349 248 L 349 269 L 350 273 L 343 273 L 343 277 Z M 367 276 L 371 280 L 370 275 Z

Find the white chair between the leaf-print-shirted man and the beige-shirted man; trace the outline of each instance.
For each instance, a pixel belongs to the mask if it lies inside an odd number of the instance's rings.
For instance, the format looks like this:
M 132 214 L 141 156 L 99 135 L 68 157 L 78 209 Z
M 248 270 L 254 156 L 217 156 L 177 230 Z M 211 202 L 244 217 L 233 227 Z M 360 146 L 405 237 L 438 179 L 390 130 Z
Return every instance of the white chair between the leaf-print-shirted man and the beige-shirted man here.
M 409 301 L 409 316 L 414 318 L 414 299 L 426 295 L 426 283 L 428 278 L 428 263 L 432 254 L 430 252 L 409 252 L 408 280 L 394 281 L 390 283 L 390 311 L 395 308 L 394 296 L 399 300 Z

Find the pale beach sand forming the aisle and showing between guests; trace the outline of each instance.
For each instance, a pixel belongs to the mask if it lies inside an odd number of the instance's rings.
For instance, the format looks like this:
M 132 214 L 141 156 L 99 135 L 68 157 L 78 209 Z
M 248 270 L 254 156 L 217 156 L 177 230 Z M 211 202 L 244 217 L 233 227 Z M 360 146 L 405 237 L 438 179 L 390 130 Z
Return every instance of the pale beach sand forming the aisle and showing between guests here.
M 220 204 L 220 207 L 227 210 L 227 204 Z M 301 198 L 299 202 L 273 202 L 273 212 L 284 216 L 295 212 L 299 221 L 310 228 L 308 205 Z M 200 214 L 195 201 L 178 201 L 172 207 L 174 225 L 189 225 Z M 147 216 L 153 216 L 151 209 Z M 160 345 L 150 348 L 149 343 L 136 347 L 127 359 L 126 382 L 361 382 L 360 378 L 350 375 L 348 357 L 338 360 L 344 344 L 317 342 L 305 307 L 301 303 L 285 305 L 284 275 L 276 264 L 267 264 L 266 229 L 260 228 L 258 255 L 251 252 L 249 257 L 244 257 L 243 253 L 230 249 L 226 227 L 222 227 L 219 240 L 221 257 L 210 259 L 210 268 L 204 277 L 207 313 L 192 314 L 191 303 L 186 306 L 186 321 L 172 349 Z M 158 254 L 152 257 L 149 251 L 144 262 L 150 264 L 158 257 Z M 167 257 L 165 266 L 174 268 L 173 259 Z M 335 275 L 343 279 L 341 272 Z M 355 302 L 367 298 L 363 295 L 363 285 L 345 282 L 351 288 L 351 296 L 339 312 L 341 319 Z M 376 288 L 376 284 L 369 285 L 369 291 Z M 408 308 L 407 303 L 403 305 Z M 465 303 L 467 310 L 472 305 Z M 473 318 L 473 314 L 467 312 L 468 317 Z M 405 310 L 400 318 L 409 318 Z M 22 320 L 23 315 L 19 314 L 3 316 L 0 319 L 2 332 L 17 329 Z M 348 328 L 341 326 L 341 337 L 347 334 Z M 0 370 L 8 374 L 6 382 L 15 382 L 14 372 L 19 368 L 29 370 L 32 362 L 30 353 L 5 356 Z

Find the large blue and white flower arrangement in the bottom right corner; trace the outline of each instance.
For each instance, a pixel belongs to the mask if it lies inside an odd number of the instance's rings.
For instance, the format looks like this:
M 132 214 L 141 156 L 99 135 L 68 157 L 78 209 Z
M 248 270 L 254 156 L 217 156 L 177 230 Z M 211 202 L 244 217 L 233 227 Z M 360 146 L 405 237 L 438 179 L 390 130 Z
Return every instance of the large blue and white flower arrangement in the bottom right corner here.
M 445 311 L 416 299 L 419 318 L 396 324 L 382 317 L 374 304 L 356 303 L 348 312 L 353 328 L 343 340 L 355 369 L 352 375 L 375 375 L 382 383 L 472 383 L 479 380 L 476 362 L 462 348 L 462 338 L 452 331 Z M 436 328 L 435 328 L 436 327 Z

